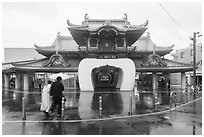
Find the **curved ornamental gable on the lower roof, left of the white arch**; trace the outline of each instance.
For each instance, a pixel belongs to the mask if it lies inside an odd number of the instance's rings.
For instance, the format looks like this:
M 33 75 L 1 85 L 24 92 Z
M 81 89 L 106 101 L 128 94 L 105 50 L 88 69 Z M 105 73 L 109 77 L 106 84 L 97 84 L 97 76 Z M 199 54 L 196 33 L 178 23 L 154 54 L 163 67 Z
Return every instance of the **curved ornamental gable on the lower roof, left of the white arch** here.
M 70 64 L 67 64 L 62 55 L 54 54 L 50 57 L 49 61 L 44 65 L 44 67 L 69 67 Z

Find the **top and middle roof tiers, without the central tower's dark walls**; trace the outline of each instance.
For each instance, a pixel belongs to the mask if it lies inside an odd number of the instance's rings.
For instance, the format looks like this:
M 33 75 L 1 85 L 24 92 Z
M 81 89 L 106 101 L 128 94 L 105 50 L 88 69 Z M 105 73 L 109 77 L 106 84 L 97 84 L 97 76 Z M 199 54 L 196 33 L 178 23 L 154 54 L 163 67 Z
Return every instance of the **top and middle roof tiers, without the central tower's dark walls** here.
M 40 47 L 37 45 L 34 46 L 36 47 L 36 51 L 39 54 L 42 54 L 46 57 L 50 57 L 56 52 L 66 54 L 68 56 L 79 56 L 79 52 L 81 52 L 80 45 L 87 45 L 88 37 L 92 37 L 92 35 L 98 35 L 98 33 L 101 32 L 101 30 L 103 30 L 105 27 L 113 29 L 116 32 L 116 35 L 121 34 L 121 36 L 125 36 L 127 39 L 126 44 L 128 46 L 128 53 L 130 56 L 138 57 L 143 56 L 144 54 L 146 56 L 151 54 L 153 50 L 160 56 L 164 56 L 173 50 L 173 45 L 168 47 L 156 46 L 150 39 L 149 35 L 141 37 L 141 35 L 147 29 L 146 26 L 148 24 L 148 20 L 141 25 L 131 25 L 127 18 L 128 17 L 125 14 L 122 19 L 89 19 L 88 14 L 86 14 L 82 25 L 75 25 L 67 20 L 67 24 L 69 25 L 68 29 L 70 30 L 72 37 L 60 36 L 58 34 L 53 45 L 45 47 Z M 95 52 L 91 51 L 91 53 L 97 54 L 97 51 Z

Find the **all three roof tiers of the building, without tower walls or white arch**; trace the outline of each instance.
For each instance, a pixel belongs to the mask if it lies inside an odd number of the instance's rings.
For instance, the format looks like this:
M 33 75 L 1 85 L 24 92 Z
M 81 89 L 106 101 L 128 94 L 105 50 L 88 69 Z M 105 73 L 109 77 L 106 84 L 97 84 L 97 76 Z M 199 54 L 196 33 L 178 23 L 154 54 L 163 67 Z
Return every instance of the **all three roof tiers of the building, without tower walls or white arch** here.
M 131 25 L 128 17 L 122 19 L 89 19 L 86 14 L 82 25 L 75 25 L 67 20 L 68 29 L 71 36 L 60 36 L 59 33 L 51 46 L 34 45 L 39 54 L 47 58 L 32 60 L 27 62 L 17 62 L 10 65 L 5 64 L 3 71 L 7 73 L 15 71 L 29 72 L 77 72 L 78 65 L 83 59 L 84 54 L 97 54 L 98 50 L 85 51 L 81 50 L 81 45 L 86 45 L 87 38 L 93 35 L 97 36 L 98 32 L 104 28 L 114 30 L 116 35 L 127 39 L 126 47 L 122 47 L 119 52 L 125 53 L 125 57 L 131 58 L 135 62 L 138 72 L 185 72 L 192 71 L 192 64 L 178 63 L 161 58 L 173 50 L 173 46 L 160 47 L 156 46 L 150 39 L 150 36 L 141 35 L 147 29 L 148 20 L 141 25 Z M 83 45 L 83 46 L 84 46 Z M 127 48 L 125 50 L 125 48 Z M 152 54 L 153 53 L 153 54 Z M 82 56 L 81 56 L 82 55 Z M 147 57 L 146 62 L 143 62 Z

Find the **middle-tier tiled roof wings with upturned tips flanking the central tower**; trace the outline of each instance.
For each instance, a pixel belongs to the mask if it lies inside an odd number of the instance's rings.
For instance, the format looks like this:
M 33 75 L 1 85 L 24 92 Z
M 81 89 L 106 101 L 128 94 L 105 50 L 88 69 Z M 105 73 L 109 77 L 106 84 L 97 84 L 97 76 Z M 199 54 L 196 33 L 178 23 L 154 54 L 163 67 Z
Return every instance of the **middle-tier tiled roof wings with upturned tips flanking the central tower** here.
M 58 40 L 58 41 L 57 41 Z M 148 41 L 148 43 L 146 42 Z M 36 50 L 43 55 L 46 55 L 47 53 L 55 53 L 56 52 L 56 46 L 58 47 L 58 50 L 60 53 L 77 53 L 79 51 L 77 43 L 74 41 L 74 39 L 71 36 L 59 36 L 53 43 L 52 46 L 37 46 Z M 135 42 L 132 47 L 137 47 L 136 51 L 137 53 L 152 53 L 153 52 L 153 46 L 154 50 L 159 55 L 166 55 L 170 53 L 173 50 L 173 46 L 167 46 L 167 47 L 161 47 L 156 46 L 152 40 L 149 38 L 149 36 L 143 36 L 141 37 L 137 42 Z

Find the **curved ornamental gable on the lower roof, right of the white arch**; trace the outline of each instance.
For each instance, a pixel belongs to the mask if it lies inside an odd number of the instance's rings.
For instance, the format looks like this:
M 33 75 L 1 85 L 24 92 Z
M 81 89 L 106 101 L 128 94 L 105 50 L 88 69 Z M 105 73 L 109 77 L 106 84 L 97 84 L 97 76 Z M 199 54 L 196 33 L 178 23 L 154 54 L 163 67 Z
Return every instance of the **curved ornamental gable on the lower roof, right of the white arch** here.
M 161 59 L 158 54 L 149 55 L 147 61 L 141 66 L 149 67 L 149 66 L 167 66 L 167 64 Z

